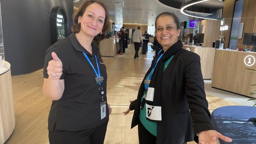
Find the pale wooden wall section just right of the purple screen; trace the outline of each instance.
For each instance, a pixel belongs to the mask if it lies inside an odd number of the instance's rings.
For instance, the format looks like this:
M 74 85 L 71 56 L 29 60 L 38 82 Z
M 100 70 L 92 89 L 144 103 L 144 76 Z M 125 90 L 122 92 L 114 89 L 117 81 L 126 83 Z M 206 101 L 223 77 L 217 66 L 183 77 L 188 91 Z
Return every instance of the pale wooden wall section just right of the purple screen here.
M 204 43 L 205 47 L 212 47 L 212 42 L 219 39 L 221 35 L 221 20 L 202 20 L 200 25 L 204 25 Z

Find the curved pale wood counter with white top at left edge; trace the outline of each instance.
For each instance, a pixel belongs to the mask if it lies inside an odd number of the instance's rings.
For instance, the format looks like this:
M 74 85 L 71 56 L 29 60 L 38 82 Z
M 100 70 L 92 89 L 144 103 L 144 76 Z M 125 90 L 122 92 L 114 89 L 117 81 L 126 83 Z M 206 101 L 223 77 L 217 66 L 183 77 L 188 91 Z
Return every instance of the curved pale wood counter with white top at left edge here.
M 7 61 L 5 64 L 6 68 L 0 70 L 0 144 L 6 142 L 15 127 L 11 65 Z

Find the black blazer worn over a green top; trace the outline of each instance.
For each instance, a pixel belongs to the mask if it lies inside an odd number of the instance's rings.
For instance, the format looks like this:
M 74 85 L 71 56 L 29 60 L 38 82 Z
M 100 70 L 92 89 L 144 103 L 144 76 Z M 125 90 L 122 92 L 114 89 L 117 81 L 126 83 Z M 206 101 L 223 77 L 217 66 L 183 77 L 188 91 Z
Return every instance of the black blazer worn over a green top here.
M 151 69 L 152 65 L 145 78 Z M 130 104 L 130 109 L 135 110 L 131 128 L 139 122 L 139 105 L 145 90 L 145 78 L 137 99 Z M 162 121 L 157 123 L 157 144 L 198 142 L 197 133 L 214 129 L 204 92 L 199 55 L 181 48 L 163 73 L 161 89 Z

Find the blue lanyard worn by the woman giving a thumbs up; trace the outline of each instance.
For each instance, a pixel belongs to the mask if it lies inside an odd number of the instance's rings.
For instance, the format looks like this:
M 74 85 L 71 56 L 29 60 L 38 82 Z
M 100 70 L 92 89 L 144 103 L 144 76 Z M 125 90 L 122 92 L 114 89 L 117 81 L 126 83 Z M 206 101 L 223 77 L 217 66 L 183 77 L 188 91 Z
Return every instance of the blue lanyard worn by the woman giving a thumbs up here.
M 99 85 L 100 95 L 101 95 L 102 101 L 104 101 L 103 100 L 104 91 L 103 91 L 103 88 L 101 87 L 101 83 L 103 82 L 104 79 L 103 79 L 103 76 L 100 76 L 100 68 L 99 68 L 99 65 L 98 65 L 97 57 L 95 55 L 95 61 L 96 61 L 96 64 L 97 64 L 98 73 L 96 72 L 96 69 L 94 68 L 93 64 L 91 63 L 90 59 L 85 54 L 85 52 L 83 52 L 83 55 L 85 56 L 87 61 L 90 63 L 91 67 L 93 68 L 93 70 L 94 70 L 94 72 L 96 74 L 96 78 L 95 78 L 96 79 L 96 83 Z

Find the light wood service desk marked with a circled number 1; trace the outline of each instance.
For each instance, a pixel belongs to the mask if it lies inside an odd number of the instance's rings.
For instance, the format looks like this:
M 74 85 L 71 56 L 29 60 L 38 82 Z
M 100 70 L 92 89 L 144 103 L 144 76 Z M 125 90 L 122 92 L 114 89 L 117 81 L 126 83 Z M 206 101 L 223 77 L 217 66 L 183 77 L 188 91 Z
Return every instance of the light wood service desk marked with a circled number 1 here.
M 256 90 L 256 74 L 246 68 L 256 69 L 255 52 L 216 49 L 211 87 L 235 92 L 245 96 Z

